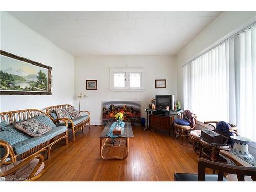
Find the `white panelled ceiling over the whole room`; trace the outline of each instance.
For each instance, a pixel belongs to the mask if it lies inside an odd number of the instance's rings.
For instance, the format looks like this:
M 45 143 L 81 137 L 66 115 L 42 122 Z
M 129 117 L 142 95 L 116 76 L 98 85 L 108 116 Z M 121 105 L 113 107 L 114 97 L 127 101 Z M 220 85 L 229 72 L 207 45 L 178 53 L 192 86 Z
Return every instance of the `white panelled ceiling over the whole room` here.
M 9 11 L 74 56 L 176 55 L 221 11 Z

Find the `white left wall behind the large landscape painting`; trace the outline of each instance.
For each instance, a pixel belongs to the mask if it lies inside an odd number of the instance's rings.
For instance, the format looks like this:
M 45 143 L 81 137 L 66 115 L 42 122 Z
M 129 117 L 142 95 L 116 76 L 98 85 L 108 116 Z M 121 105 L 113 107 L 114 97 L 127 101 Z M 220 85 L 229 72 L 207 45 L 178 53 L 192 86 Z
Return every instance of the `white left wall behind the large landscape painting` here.
M 1 95 L 0 111 L 74 104 L 74 57 L 6 12 L 1 12 L 1 50 L 52 67 L 52 95 Z M 1 63 L 2 65 L 2 63 Z

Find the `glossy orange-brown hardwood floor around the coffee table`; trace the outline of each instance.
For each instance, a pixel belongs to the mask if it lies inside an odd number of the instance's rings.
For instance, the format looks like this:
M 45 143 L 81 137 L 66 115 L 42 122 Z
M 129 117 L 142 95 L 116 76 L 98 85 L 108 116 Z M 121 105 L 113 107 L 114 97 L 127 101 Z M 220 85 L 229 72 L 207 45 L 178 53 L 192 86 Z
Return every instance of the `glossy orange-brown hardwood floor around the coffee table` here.
M 86 127 L 84 135 L 77 132 L 74 142 L 70 137 L 68 145 L 64 140 L 55 144 L 38 181 L 173 181 L 175 172 L 198 171 L 198 155 L 190 139 L 181 145 L 180 138 L 142 127 L 133 127 L 127 159 L 102 160 L 98 136 L 103 128 L 91 126 L 88 131 Z

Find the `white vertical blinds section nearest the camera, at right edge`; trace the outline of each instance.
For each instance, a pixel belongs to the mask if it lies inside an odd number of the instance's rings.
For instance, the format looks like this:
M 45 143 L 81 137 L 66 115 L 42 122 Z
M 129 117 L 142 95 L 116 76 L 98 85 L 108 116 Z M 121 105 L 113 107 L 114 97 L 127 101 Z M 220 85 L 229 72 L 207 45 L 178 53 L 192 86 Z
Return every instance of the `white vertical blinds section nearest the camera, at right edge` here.
M 230 40 L 230 81 L 235 109 L 230 113 L 240 128 L 239 134 L 256 141 L 256 26 Z

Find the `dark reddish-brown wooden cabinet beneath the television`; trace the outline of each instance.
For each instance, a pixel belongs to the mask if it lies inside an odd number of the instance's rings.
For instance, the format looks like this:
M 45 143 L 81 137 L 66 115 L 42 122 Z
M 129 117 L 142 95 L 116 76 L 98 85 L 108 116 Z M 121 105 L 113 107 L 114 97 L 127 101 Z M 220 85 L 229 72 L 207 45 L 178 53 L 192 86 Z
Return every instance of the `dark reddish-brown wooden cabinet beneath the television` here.
M 161 116 L 161 115 L 149 115 L 150 117 L 150 131 L 153 128 L 156 130 L 169 132 L 173 130 L 174 116 Z

